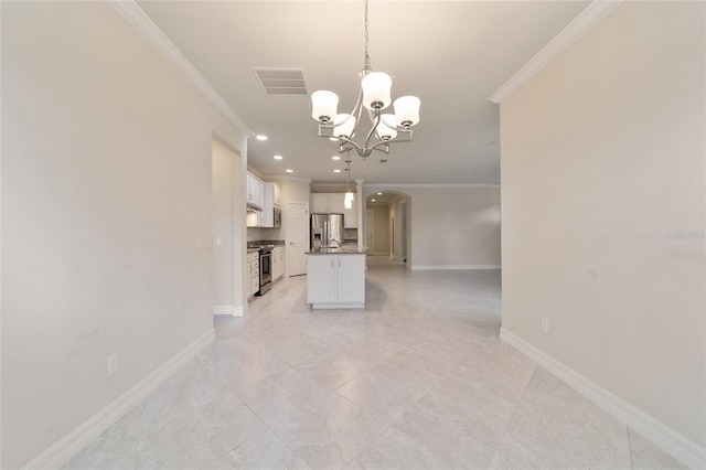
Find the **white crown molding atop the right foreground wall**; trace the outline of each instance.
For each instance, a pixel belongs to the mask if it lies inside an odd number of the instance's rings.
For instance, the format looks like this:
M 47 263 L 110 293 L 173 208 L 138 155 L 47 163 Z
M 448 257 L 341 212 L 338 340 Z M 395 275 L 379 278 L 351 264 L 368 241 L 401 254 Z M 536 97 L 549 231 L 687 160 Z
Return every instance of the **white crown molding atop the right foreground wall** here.
M 534 57 L 520 68 L 503 84 L 488 100 L 500 105 L 505 98 L 515 93 L 537 72 L 546 67 L 576 40 L 586 34 L 596 23 L 613 11 L 622 0 L 596 0 L 579 13 L 559 34 L 554 36 Z

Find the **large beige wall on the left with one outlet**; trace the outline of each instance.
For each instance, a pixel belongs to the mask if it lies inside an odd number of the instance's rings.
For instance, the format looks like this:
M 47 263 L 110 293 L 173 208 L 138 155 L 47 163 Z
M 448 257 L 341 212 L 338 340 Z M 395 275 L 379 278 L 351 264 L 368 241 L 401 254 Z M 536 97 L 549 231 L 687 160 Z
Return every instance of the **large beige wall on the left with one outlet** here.
M 212 331 L 213 135 L 246 139 L 109 3 L 0 8 L 0 466 L 19 468 Z

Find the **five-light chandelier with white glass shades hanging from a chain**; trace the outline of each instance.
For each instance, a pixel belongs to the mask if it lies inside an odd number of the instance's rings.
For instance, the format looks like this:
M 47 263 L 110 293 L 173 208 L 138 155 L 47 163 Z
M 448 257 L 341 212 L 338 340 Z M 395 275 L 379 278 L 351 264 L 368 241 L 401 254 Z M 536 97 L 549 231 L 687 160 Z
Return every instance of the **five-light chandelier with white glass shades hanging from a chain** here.
M 361 87 L 357 100 L 350 114 L 338 114 L 339 96 L 325 89 L 311 94 L 311 116 L 319 121 L 319 137 L 328 137 L 340 145 L 340 152 L 355 150 L 366 158 L 373 150 L 389 153 L 389 145 L 411 140 L 411 126 L 419 122 L 420 100 L 416 96 L 402 96 L 395 99 L 395 114 L 383 114 L 392 102 L 393 79 L 383 72 L 373 72 L 367 53 L 367 0 L 365 0 L 365 62 L 360 73 Z M 363 108 L 371 120 L 371 130 L 365 140 L 357 143 L 357 125 Z

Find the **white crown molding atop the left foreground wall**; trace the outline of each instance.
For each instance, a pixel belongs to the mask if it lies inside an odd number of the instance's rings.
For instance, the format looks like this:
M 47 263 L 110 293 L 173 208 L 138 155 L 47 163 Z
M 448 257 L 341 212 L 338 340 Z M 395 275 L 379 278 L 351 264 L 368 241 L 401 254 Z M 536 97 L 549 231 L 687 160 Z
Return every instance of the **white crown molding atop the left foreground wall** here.
M 174 66 L 186 81 L 194 87 L 216 110 L 218 110 L 233 126 L 238 128 L 246 137 L 255 136 L 255 132 L 245 121 L 228 106 L 223 97 L 201 75 L 201 72 L 182 54 L 169 38 L 159 29 L 150 17 L 147 15 L 135 0 L 108 0 L 127 21 L 147 40 L 167 61 Z

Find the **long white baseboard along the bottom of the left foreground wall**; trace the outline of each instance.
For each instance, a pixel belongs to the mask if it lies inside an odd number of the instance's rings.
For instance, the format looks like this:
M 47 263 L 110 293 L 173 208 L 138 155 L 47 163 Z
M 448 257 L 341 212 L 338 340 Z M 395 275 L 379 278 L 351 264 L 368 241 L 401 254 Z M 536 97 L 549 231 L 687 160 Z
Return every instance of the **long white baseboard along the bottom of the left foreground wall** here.
M 85 420 L 66 436 L 54 442 L 49 449 L 32 459 L 25 469 L 58 469 L 76 453 L 93 442 L 106 429 L 118 421 L 125 414 L 157 389 L 190 359 L 200 353 L 215 340 L 215 331 L 208 330 L 204 335 L 184 348 L 157 371 L 138 382 L 130 389 L 109 403 L 105 408 Z

